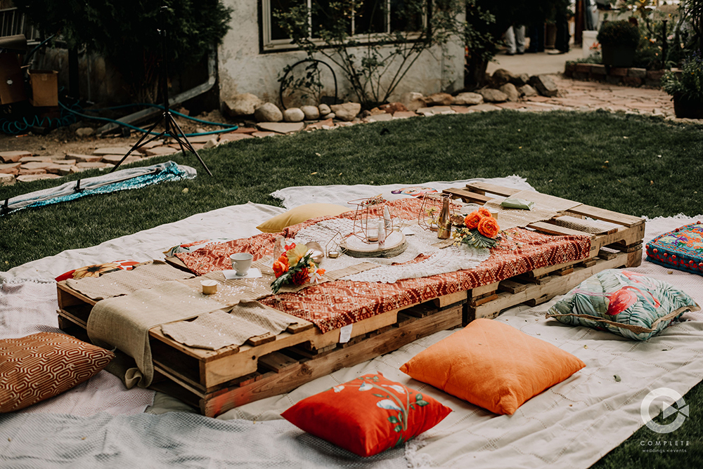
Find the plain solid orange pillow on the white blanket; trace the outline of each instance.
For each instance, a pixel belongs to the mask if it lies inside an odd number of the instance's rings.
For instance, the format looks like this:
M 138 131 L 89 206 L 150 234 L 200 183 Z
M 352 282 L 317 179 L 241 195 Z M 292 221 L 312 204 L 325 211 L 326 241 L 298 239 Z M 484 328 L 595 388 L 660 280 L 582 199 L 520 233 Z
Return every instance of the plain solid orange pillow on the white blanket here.
M 415 355 L 401 371 L 496 414 L 512 415 L 583 366 L 574 355 L 508 324 L 476 319 Z

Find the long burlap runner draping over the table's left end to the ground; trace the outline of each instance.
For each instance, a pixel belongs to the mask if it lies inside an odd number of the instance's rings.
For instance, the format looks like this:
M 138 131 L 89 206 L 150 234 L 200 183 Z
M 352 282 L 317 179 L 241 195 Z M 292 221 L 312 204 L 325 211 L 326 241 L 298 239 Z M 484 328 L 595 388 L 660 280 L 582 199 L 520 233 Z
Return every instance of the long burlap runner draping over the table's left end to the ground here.
M 88 317 L 88 336 L 105 348 L 117 347 L 136 362 L 124 377 L 127 388 L 148 387 L 154 377 L 149 346 L 149 329 L 167 322 L 189 319 L 226 308 L 180 282 L 163 282 L 150 289 L 134 291 L 98 301 Z

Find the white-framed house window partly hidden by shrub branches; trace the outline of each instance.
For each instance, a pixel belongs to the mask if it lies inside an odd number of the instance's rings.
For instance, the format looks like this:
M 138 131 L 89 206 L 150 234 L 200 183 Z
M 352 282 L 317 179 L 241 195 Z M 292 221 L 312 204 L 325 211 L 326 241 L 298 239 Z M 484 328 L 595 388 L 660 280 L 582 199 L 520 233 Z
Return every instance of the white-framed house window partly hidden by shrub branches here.
M 349 4 L 349 34 L 356 41 L 373 41 L 374 34 L 396 31 L 420 32 L 427 15 L 401 15 L 406 0 L 347 0 Z M 318 38 L 320 25 L 325 24 L 330 3 L 340 0 L 262 0 L 262 37 L 264 51 L 290 50 L 292 41 L 283 28 L 278 26 L 276 12 L 287 12 L 295 6 L 307 6 L 311 39 Z M 427 2 L 428 4 L 430 2 Z M 408 34 L 413 39 L 413 34 Z

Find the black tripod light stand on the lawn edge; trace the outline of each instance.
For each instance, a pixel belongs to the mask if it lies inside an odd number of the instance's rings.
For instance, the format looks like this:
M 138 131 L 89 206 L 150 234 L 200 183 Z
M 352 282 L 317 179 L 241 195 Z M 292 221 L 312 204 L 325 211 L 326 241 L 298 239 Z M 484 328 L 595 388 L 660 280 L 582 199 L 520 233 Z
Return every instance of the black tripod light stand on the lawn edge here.
M 202 167 L 205 168 L 205 171 L 212 176 L 212 173 L 210 172 L 209 169 L 207 169 L 207 166 L 205 165 L 205 161 L 202 161 L 202 158 L 200 158 L 200 155 L 198 154 L 197 151 L 195 151 L 195 148 L 193 148 L 193 145 L 191 145 L 190 142 L 188 142 L 188 138 L 186 138 L 186 135 L 183 133 L 181 130 L 181 127 L 178 125 L 176 122 L 176 119 L 174 119 L 173 114 L 171 114 L 171 111 L 169 111 L 169 84 L 168 84 L 168 67 L 167 67 L 167 54 L 166 54 L 166 11 L 168 7 L 165 5 L 162 5 L 159 14 L 161 16 L 161 29 L 160 29 L 160 34 L 161 34 L 161 55 L 162 55 L 162 60 L 163 60 L 163 67 L 161 70 L 161 94 L 164 97 L 164 113 L 161 115 L 161 119 L 155 122 L 153 126 L 149 128 L 149 130 L 137 141 L 137 143 L 134 144 L 134 147 L 131 147 L 131 150 L 127 152 L 127 154 L 120 159 L 120 162 L 118 162 L 112 170 L 110 170 L 110 173 L 112 171 L 115 171 L 120 164 L 122 164 L 122 161 L 127 159 L 130 154 L 138 150 L 139 148 L 143 147 L 144 145 L 147 145 L 148 143 L 152 142 L 153 140 L 157 140 L 162 137 L 171 137 L 176 142 L 178 142 L 179 147 L 181 147 L 181 152 L 183 154 L 186 154 L 186 150 L 189 152 L 192 152 L 195 154 L 195 157 L 198 158 L 198 161 L 200 161 L 200 164 L 202 164 Z M 144 141 L 148 136 L 151 135 L 152 131 L 163 122 L 164 124 L 164 131 L 157 136 L 153 136 L 152 138 L 149 138 L 148 140 Z

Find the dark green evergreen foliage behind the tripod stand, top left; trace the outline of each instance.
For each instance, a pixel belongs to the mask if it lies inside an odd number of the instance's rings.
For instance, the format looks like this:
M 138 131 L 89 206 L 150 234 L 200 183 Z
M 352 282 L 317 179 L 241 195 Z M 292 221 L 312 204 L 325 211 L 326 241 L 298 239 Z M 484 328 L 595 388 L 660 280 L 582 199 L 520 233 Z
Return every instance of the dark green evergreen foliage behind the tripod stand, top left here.
M 44 34 L 59 33 L 69 47 L 108 58 L 138 100 L 157 99 L 161 2 L 149 0 L 14 0 Z M 229 29 L 222 0 L 165 0 L 171 74 L 195 65 Z

